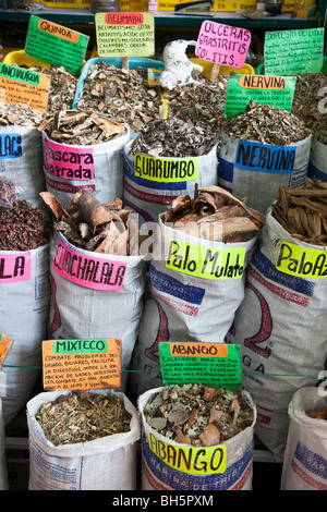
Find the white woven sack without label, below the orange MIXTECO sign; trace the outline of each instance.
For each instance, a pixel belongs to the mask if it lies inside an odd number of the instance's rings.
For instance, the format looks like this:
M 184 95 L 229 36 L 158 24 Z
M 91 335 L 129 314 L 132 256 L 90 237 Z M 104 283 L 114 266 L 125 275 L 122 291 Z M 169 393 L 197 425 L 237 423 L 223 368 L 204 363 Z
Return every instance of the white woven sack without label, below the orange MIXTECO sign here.
M 116 393 L 132 415 L 129 432 L 56 447 L 46 439 L 35 414 L 43 404 L 69 393 L 40 393 L 27 402 L 28 490 L 135 490 L 140 420 L 134 405 L 123 393 Z

